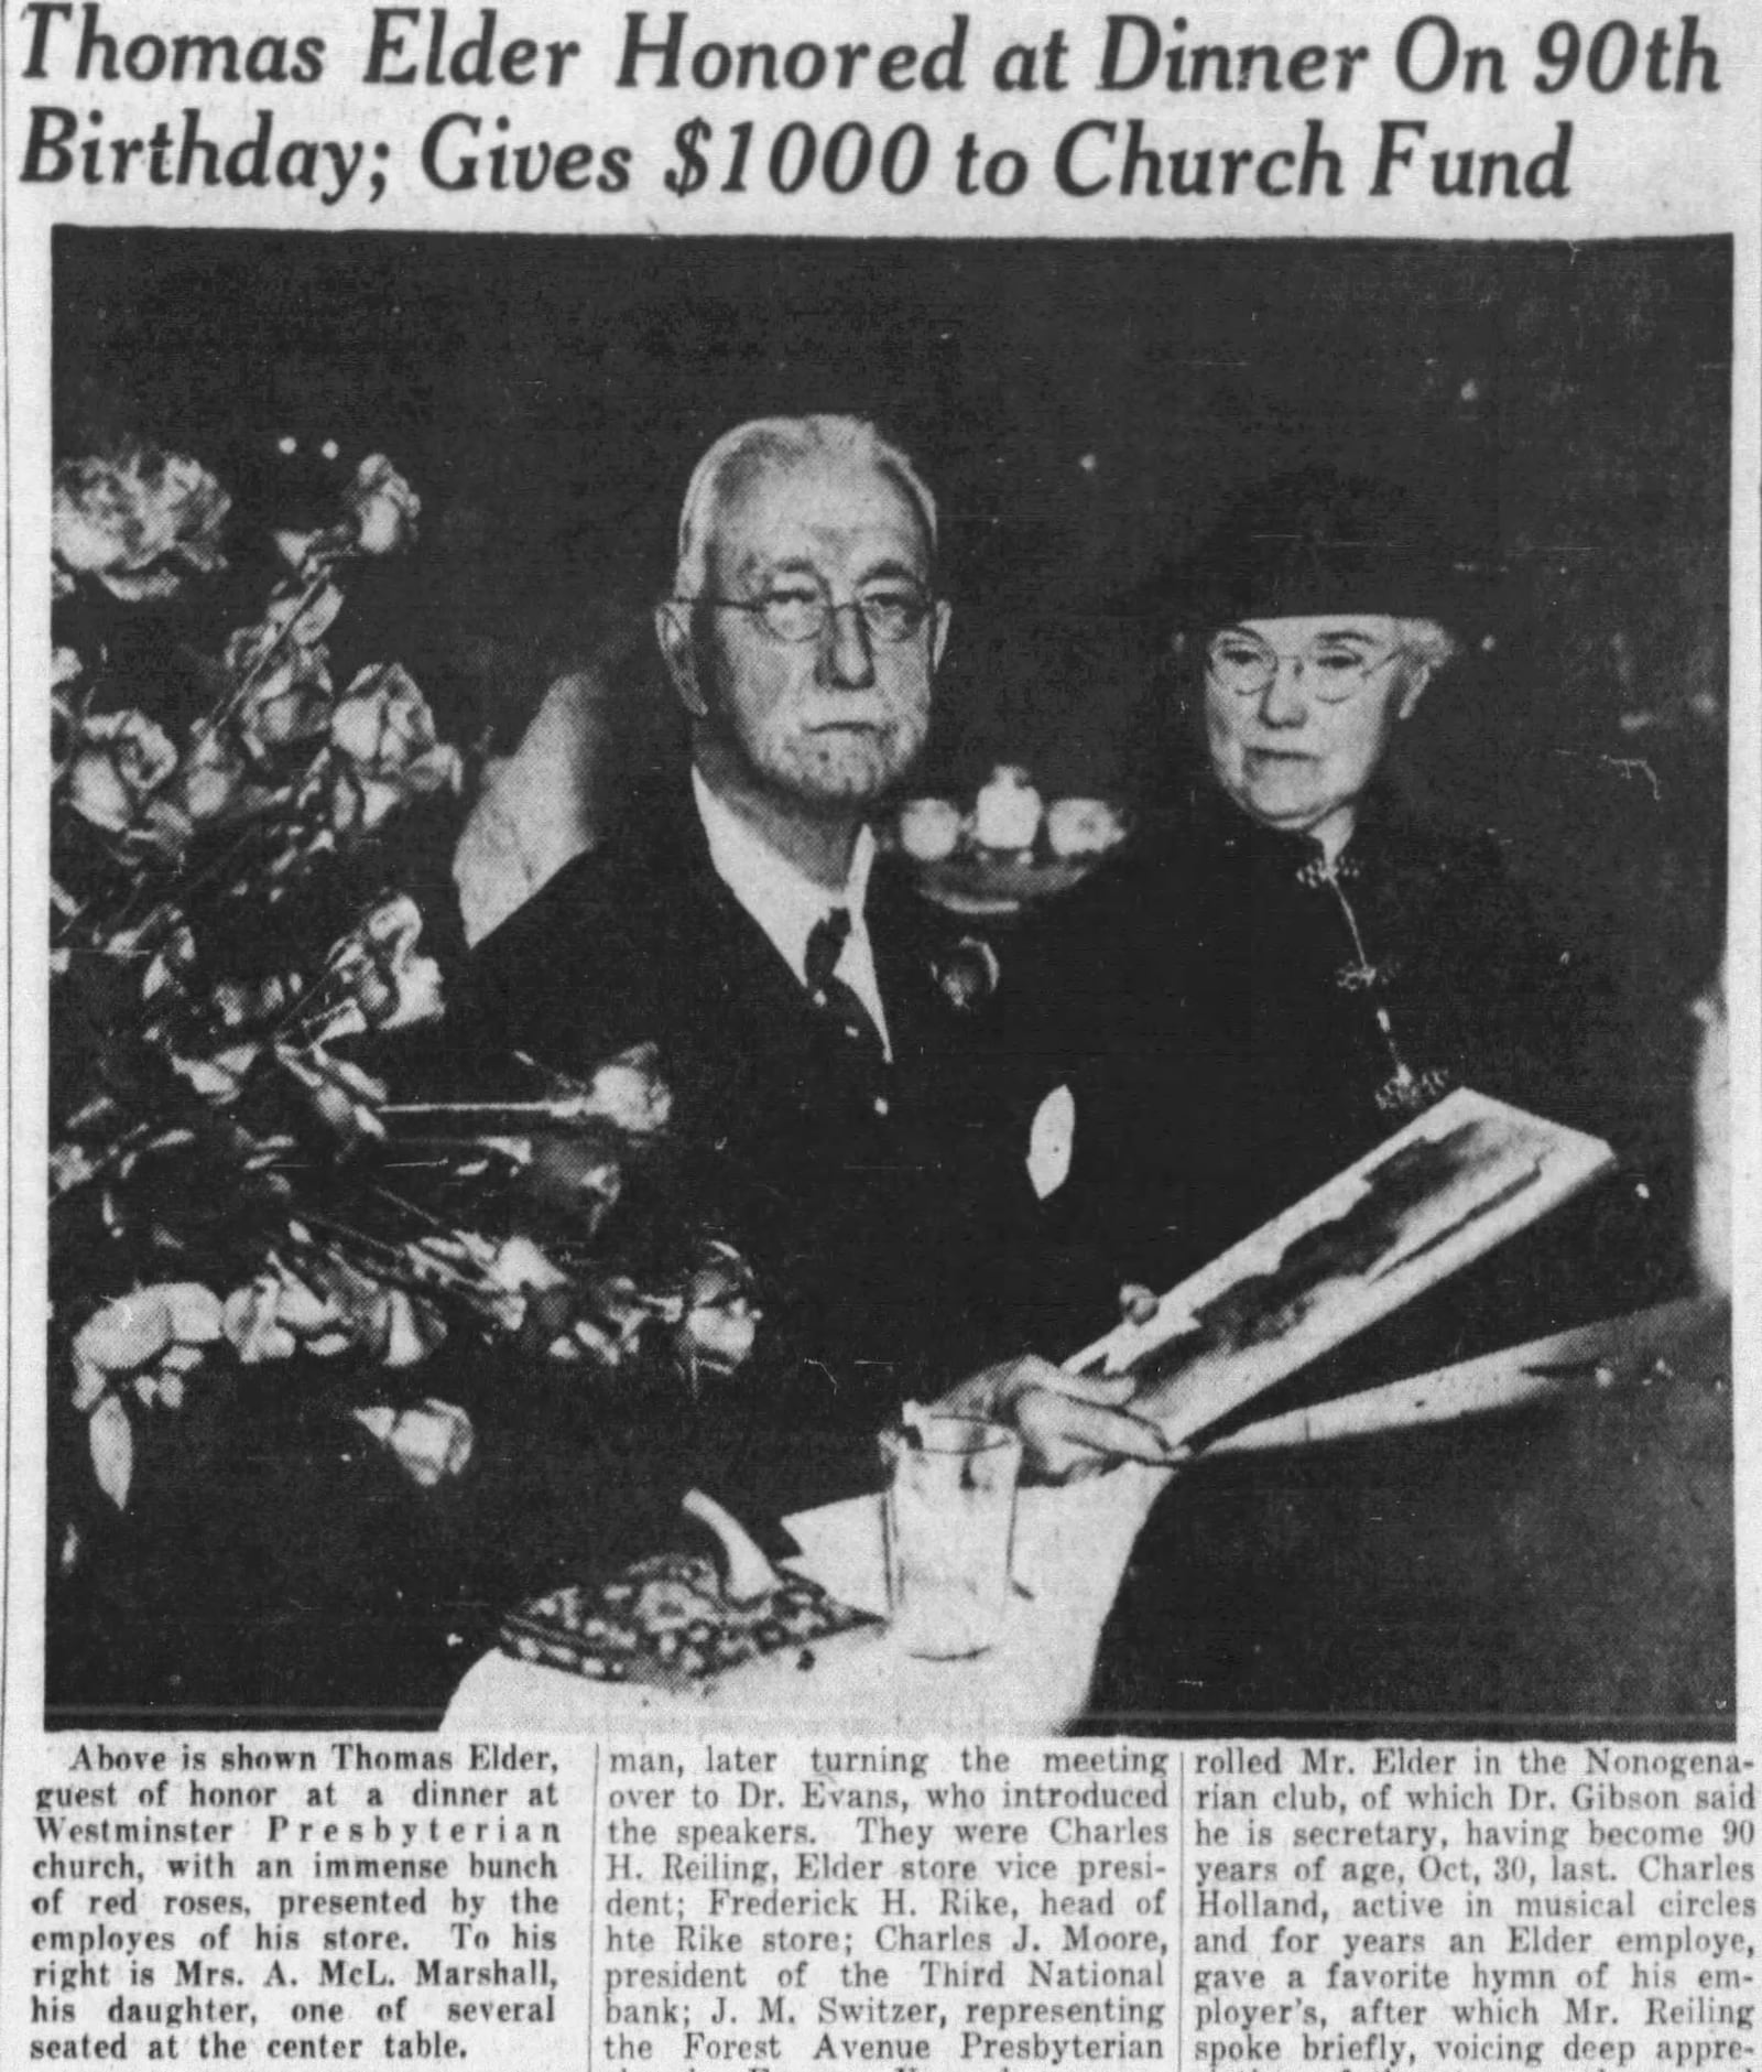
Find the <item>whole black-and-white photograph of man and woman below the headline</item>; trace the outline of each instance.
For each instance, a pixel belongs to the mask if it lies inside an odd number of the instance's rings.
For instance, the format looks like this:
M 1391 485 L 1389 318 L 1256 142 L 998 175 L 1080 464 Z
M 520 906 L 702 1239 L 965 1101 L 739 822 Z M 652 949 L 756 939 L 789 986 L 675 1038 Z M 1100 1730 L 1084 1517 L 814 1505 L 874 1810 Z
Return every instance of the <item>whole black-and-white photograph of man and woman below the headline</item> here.
M 1729 238 L 50 309 L 46 1726 L 1731 1738 Z

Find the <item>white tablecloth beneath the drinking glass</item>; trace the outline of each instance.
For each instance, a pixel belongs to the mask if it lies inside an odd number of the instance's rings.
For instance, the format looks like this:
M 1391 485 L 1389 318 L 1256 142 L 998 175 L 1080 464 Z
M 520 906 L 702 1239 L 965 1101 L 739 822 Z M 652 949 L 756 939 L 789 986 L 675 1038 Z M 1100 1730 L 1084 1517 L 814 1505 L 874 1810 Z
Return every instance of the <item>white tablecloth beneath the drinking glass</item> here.
M 1124 1465 L 1064 1488 L 1025 1488 L 1017 1502 L 1017 1600 L 998 1647 L 965 1662 L 919 1662 L 886 1629 L 859 1629 L 785 1649 L 702 1691 L 594 1682 L 565 1670 L 484 1656 L 441 1722 L 458 1734 L 1056 1734 L 1083 1709 L 1102 1624 L 1162 1469 Z M 880 1498 L 857 1496 L 785 1521 L 791 1562 L 865 1612 L 886 1604 Z

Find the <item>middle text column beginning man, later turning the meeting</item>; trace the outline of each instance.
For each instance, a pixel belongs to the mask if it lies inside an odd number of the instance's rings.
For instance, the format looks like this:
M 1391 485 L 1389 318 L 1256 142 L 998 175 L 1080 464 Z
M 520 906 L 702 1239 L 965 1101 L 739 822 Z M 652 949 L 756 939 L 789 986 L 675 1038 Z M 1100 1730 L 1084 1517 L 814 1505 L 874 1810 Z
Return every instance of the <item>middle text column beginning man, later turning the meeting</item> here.
M 1176 1772 L 1126 1743 L 609 1751 L 594 2064 L 1172 2062 Z

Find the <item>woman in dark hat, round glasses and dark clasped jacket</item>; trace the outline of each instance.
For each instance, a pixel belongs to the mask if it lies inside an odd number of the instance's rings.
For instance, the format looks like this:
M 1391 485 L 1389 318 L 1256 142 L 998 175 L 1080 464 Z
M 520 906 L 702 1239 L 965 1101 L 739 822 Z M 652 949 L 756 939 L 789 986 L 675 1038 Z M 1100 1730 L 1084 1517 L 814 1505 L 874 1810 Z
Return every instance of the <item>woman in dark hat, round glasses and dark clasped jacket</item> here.
M 1588 1009 L 1491 837 L 1385 779 L 1466 588 L 1389 485 L 1249 495 L 1182 586 L 1205 767 L 1050 922 L 1075 1152 L 1052 1214 L 1166 1287 L 1453 1086 L 1582 1119 Z M 1106 1280 L 1106 1274 L 1102 1276 Z

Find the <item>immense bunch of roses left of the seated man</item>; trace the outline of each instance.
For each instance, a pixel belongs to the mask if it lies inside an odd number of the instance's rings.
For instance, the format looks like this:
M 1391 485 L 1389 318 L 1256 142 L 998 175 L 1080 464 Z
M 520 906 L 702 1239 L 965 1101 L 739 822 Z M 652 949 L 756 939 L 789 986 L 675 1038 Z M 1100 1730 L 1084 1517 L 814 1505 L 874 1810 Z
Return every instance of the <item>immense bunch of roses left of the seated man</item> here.
M 337 686 L 329 634 L 420 503 L 371 456 L 333 524 L 280 535 L 261 615 L 182 653 L 174 721 L 106 628 L 224 568 L 228 510 L 139 445 L 56 470 L 52 1349 L 116 1506 L 139 1421 L 226 1372 L 331 1363 L 431 1484 L 472 1446 L 412 1378 L 449 1336 L 696 1390 L 756 1324 L 714 1237 L 650 1231 L 632 1270 L 607 1235 L 665 1158 L 648 1046 L 586 1082 L 509 1061 L 509 1100 L 395 1098 L 400 1046 L 445 1011 L 398 823 L 456 810 L 466 767 L 398 661 Z

